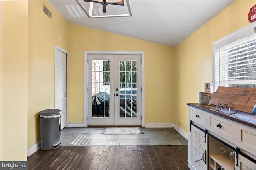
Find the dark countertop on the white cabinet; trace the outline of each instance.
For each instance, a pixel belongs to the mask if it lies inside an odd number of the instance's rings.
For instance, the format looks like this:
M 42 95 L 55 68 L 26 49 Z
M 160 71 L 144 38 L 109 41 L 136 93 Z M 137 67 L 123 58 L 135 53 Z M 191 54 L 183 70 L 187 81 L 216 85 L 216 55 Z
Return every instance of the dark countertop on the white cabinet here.
M 213 105 L 210 105 L 208 107 L 207 105 L 199 103 L 187 103 L 187 105 L 256 128 L 256 114 L 238 111 L 236 114 L 231 115 L 228 113 L 228 109 L 223 108 L 220 111 L 216 111 L 216 108 Z

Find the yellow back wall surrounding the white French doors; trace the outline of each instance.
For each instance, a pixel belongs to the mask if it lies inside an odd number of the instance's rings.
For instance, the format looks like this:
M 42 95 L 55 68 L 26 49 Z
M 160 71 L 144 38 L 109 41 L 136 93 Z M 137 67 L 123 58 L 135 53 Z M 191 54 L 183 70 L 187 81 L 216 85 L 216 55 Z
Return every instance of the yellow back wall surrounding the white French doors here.
M 84 50 L 145 51 L 145 121 L 174 122 L 170 109 L 174 107 L 172 47 L 72 24 L 68 40 L 68 122 L 84 121 Z M 154 86 L 154 80 L 159 81 L 159 86 Z

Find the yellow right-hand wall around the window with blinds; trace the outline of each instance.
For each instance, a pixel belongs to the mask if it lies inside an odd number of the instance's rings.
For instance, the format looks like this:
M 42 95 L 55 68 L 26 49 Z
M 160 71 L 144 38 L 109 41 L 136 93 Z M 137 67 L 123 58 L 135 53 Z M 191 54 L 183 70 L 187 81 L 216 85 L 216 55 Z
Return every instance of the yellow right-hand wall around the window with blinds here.
M 256 0 L 236 0 L 174 48 L 175 123 L 186 132 L 186 103 L 198 103 L 204 83 L 212 82 L 212 43 L 248 25 L 248 12 L 255 4 Z

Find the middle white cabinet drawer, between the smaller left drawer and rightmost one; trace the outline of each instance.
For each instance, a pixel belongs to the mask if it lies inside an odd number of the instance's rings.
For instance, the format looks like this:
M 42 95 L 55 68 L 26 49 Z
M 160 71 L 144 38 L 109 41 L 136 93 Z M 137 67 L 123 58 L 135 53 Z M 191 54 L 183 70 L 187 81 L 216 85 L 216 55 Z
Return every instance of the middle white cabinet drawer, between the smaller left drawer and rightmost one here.
M 207 129 L 232 143 L 236 143 L 236 123 L 226 118 L 207 114 Z

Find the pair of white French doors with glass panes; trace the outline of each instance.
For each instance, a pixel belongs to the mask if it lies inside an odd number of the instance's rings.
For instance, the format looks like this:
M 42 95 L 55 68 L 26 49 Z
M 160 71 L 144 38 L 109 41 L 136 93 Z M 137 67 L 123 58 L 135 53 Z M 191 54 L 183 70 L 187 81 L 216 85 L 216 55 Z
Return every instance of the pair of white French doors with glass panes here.
M 141 55 L 88 55 L 88 125 L 141 124 Z

